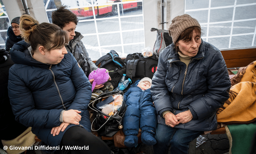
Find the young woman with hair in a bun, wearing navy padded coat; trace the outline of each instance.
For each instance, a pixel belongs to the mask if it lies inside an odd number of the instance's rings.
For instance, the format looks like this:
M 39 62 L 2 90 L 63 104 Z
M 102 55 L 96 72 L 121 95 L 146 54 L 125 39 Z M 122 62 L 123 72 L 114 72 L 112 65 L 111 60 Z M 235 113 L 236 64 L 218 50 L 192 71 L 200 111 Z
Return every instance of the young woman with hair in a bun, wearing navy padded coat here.
M 45 152 L 77 146 L 71 153 L 110 154 L 90 132 L 92 86 L 64 46 L 69 41 L 66 32 L 54 24 L 38 24 L 29 15 L 21 16 L 20 26 L 31 50 L 21 41 L 10 51 L 15 64 L 9 70 L 8 94 L 15 120 L 53 147 L 41 149 Z

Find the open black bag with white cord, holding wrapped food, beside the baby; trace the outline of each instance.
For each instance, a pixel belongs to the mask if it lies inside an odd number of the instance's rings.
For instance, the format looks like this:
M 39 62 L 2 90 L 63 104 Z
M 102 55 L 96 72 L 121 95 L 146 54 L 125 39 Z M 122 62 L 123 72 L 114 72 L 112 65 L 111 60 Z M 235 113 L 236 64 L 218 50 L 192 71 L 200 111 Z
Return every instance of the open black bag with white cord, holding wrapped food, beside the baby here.
M 116 114 L 109 116 L 98 109 L 96 104 L 102 101 L 102 98 L 107 98 L 109 96 L 113 96 L 116 94 L 121 94 L 123 96 L 122 106 L 117 111 Z M 112 137 L 114 136 L 120 129 L 123 128 L 122 120 L 127 108 L 127 105 L 124 101 L 124 94 L 122 91 L 110 91 L 106 93 L 100 94 L 93 102 L 89 105 L 94 110 L 94 121 L 92 125 L 94 125 L 94 129 L 92 131 L 97 131 L 99 135 Z

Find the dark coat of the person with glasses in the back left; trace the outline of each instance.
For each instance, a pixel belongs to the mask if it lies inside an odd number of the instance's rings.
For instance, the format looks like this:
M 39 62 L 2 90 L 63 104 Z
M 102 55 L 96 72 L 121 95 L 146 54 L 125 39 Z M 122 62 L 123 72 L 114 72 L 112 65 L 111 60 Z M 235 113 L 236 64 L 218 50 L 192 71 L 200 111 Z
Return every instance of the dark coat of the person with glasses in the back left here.
M 11 29 L 11 26 L 7 30 L 7 35 L 9 37 L 7 37 L 7 39 L 6 39 L 5 51 L 10 51 L 10 49 L 12 48 L 12 46 L 15 43 L 18 43 L 18 42 L 22 41 L 22 38 L 21 38 L 21 36 L 16 36 L 14 34 L 13 30 Z

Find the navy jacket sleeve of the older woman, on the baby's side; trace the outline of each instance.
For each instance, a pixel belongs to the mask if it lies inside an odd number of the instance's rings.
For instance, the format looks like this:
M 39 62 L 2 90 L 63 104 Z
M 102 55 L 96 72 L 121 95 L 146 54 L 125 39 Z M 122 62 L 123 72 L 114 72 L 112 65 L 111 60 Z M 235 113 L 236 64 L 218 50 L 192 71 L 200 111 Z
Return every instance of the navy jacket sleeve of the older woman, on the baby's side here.
M 166 66 L 168 66 L 165 65 L 165 63 L 168 63 L 166 60 L 168 57 L 166 56 L 166 53 L 168 53 L 168 51 L 167 49 L 164 49 L 159 56 L 157 70 L 152 78 L 152 87 L 150 90 L 157 114 L 161 117 L 164 111 L 172 111 L 169 90 L 165 84 L 165 77 L 167 73 Z

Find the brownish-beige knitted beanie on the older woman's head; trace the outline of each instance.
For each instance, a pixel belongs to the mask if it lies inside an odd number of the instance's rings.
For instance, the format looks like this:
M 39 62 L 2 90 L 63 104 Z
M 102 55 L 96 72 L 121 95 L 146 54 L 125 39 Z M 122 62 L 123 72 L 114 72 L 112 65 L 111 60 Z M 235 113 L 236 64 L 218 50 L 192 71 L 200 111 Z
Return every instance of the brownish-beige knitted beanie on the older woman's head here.
M 198 26 L 201 29 L 199 22 L 188 14 L 173 18 L 168 30 L 173 43 L 176 43 L 177 39 L 185 29 L 192 26 Z

